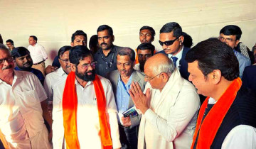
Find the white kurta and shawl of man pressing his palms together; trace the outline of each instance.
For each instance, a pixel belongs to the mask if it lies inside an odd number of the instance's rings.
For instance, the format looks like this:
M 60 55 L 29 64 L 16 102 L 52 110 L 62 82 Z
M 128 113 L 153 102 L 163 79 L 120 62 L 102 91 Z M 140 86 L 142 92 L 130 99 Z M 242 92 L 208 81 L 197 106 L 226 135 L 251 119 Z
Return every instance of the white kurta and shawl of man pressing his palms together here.
M 151 90 L 151 107 L 139 126 L 139 149 L 190 148 L 200 106 L 193 84 L 175 70 L 160 92 Z

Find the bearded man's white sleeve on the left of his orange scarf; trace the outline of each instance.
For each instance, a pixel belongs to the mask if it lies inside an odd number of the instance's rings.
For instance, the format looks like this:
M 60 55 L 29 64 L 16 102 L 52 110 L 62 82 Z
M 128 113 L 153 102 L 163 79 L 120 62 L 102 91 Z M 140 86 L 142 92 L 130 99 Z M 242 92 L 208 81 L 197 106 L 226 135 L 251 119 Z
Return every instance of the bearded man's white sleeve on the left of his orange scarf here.
M 62 92 L 57 87 L 53 94 L 53 148 L 63 148 L 64 127 L 62 110 Z

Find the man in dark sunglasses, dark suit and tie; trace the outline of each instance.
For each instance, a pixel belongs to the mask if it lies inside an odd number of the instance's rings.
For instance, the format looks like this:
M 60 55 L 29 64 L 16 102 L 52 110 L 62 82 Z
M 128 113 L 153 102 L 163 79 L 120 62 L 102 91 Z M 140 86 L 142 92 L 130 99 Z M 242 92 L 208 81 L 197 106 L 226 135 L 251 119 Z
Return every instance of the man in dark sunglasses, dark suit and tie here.
M 166 23 L 160 30 L 159 39 L 163 48 L 159 53 L 167 55 L 181 72 L 181 77 L 188 80 L 188 62 L 185 56 L 190 48 L 183 46 L 184 37 L 181 26 L 176 22 Z

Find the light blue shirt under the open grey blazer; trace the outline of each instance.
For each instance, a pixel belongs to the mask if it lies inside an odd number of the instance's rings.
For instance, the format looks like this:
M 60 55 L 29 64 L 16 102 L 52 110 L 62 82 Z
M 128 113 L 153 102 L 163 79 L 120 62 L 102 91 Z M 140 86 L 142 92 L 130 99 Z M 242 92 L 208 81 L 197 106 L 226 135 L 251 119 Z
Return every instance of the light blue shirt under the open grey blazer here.
M 132 75 L 129 77 L 127 84 L 124 84 L 120 75 L 117 83 L 117 111 L 123 113 L 127 111 L 129 105 L 129 89 L 132 84 Z

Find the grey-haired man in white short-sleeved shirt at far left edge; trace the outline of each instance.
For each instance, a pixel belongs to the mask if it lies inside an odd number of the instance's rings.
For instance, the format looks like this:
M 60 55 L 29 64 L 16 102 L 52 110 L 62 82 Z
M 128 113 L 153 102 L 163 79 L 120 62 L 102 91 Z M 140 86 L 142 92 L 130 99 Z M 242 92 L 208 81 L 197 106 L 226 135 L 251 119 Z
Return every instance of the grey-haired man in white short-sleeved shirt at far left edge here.
M 14 70 L 14 59 L 0 44 L 0 130 L 5 148 L 52 148 L 43 123 L 46 92 L 36 75 Z

